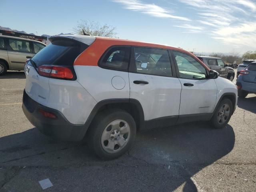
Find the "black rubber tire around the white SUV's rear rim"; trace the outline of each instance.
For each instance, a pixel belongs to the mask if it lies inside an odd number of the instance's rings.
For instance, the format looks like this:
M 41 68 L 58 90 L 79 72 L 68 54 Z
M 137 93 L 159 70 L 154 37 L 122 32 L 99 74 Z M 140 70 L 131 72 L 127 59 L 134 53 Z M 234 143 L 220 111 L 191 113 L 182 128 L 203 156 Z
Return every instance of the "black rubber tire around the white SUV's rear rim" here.
M 114 153 L 109 153 L 103 148 L 102 135 L 104 131 L 108 129 L 107 126 L 115 120 L 123 120 L 124 122 L 127 122 L 128 126 L 130 127 L 130 133 L 128 137 L 129 139 L 127 140 L 127 143 L 124 145 L 123 148 L 116 150 L 116 152 Z M 110 132 L 113 133 L 112 130 Z M 104 160 L 111 160 L 111 159 L 115 159 L 122 156 L 122 154 L 128 151 L 129 148 L 132 146 L 132 143 L 134 142 L 135 137 L 136 137 L 136 123 L 134 119 L 128 112 L 124 110 L 119 110 L 119 109 L 105 110 L 100 114 L 98 114 L 94 118 L 88 130 L 88 133 L 86 135 L 87 143 L 90 150 L 92 150 L 97 156 L 99 156 Z M 115 140 L 113 142 L 117 142 L 117 141 Z M 116 146 L 116 144 L 114 144 L 114 146 Z

